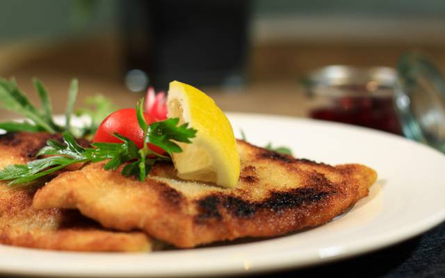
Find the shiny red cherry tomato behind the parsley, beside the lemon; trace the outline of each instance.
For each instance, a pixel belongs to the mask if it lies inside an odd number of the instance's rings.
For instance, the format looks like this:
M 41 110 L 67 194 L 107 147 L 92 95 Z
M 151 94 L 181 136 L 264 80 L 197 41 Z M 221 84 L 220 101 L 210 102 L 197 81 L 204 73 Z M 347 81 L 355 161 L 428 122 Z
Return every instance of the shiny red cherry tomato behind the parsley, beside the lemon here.
M 154 117 L 145 112 L 144 118 L 147 124 L 156 122 Z M 143 147 L 144 132 L 138 124 L 136 109 L 120 109 L 108 115 L 99 125 L 94 138 L 92 138 L 92 142 L 122 143 L 122 140 L 113 136 L 113 133 L 119 133 L 120 135 L 129 138 L 139 149 Z M 148 144 L 148 147 L 159 154 L 164 153 L 163 149 L 155 145 Z

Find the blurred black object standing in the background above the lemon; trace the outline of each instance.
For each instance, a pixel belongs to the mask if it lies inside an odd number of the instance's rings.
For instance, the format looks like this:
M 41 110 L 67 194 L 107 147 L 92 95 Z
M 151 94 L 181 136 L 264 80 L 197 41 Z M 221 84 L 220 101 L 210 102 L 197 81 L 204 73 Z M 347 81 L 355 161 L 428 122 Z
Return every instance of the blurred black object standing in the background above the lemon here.
M 243 79 L 250 1 L 122 1 L 125 70 L 156 89 Z M 138 72 L 140 74 L 140 72 Z

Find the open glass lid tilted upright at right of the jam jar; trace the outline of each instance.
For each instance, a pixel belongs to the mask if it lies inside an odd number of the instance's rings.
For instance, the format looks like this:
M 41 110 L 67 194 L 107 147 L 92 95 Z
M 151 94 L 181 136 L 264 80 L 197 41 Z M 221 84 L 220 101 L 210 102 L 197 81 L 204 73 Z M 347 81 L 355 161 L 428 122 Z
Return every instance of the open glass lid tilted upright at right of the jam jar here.
M 421 54 L 407 53 L 397 65 L 395 105 L 403 133 L 445 152 L 445 81 Z

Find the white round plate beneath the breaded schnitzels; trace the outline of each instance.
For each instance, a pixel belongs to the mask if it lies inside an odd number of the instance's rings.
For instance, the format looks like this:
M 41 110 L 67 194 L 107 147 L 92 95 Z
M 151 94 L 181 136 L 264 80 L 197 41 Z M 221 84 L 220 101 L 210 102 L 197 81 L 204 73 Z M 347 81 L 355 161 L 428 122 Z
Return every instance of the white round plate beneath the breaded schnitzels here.
M 369 197 L 316 229 L 221 247 L 151 254 L 88 254 L 0 246 L 0 272 L 20 275 L 161 277 L 300 268 L 377 250 L 445 219 L 445 156 L 389 133 L 344 124 L 229 113 L 257 145 L 286 145 L 300 158 L 363 163 L 379 178 Z

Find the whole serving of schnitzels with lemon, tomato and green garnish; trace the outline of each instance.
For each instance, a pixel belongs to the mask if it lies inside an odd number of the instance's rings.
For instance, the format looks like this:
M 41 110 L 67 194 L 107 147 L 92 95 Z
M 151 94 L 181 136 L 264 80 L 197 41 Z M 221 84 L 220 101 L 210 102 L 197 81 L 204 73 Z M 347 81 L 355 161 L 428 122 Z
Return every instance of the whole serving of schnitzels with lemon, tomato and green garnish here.
M 54 123 L 49 95 L 34 83 L 40 108 L 14 80 L 0 80 L 0 108 L 27 118 L 0 126 L 63 135 L 0 136 L 0 179 L 10 181 L 0 183 L 2 244 L 131 252 L 151 250 L 151 238 L 190 248 L 279 236 L 329 222 L 368 195 L 377 179 L 364 165 L 330 166 L 236 141 L 215 101 L 179 81 L 170 83 L 167 99 L 156 96 L 156 107 L 167 112 L 162 119 L 145 113 L 141 99 L 99 124 L 108 114 L 100 99 L 84 111 L 91 125 L 81 129 L 70 124 L 75 79 L 65 126 Z M 94 143 L 73 133 L 94 136 Z M 36 161 L 38 154 L 46 157 Z

